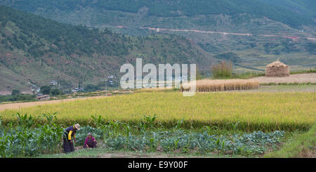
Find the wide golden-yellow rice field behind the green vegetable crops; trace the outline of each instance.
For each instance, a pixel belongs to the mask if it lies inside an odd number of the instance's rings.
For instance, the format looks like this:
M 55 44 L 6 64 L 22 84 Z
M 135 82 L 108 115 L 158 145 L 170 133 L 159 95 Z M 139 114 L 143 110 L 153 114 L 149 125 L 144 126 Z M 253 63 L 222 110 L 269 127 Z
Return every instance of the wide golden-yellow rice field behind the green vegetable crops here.
M 63 124 L 92 124 L 91 115 L 103 119 L 138 122 L 143 115 L 157 115 L 168 127 L 184 119 L 187 128 L 216 125 L 227 128 L 239 122 L 244 130 L 305 130 L 316 121 L 315 93 L 196 93 L 183 97 L 180 92 L 143 92 L 23 107 L 0 112 L 4 122 L 14 121 L 12 114 L 58 112 Z

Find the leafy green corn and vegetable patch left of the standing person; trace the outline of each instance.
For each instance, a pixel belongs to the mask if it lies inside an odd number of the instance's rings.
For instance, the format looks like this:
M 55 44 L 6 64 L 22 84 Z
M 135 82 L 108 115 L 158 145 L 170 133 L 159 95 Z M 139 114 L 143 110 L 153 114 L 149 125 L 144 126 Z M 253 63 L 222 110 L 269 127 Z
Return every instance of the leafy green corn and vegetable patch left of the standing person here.
M 30 157 L 59 150 L 63 128 L 54 123 L 55 117 L 47 115 L 52 120 L 37 128 L 31 128 L 34 120 L 32 116 L 17 114 L 17 117 L 18 126 L 11 123 L 7 131 L 5 128 L 0 129 L 1 157 Z

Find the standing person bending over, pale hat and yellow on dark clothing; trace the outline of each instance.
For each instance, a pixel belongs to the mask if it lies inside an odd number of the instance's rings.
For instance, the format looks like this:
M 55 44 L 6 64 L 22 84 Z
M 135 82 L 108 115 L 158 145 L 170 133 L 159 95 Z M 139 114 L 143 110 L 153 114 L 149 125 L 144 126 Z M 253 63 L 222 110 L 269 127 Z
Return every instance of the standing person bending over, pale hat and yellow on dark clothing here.
M 76 131 L 80 130 L 79 124 L 74 124 L 74 126 L 70 126 L 66 128 L 64 133 L 64 152 L 73 152 L 74 151 L 74 143 L 76 143 Z M 72 142 L 72 138 L 74 138 L 74 143 Z

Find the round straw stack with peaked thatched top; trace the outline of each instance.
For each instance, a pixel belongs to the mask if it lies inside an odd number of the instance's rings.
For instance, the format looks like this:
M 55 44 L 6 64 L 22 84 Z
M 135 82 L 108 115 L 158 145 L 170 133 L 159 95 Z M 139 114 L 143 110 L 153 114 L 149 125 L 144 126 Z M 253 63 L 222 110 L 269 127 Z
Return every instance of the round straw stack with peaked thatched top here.
M 289 67 L 279 60 L 265 67 L 265 77 L 289 77 Z

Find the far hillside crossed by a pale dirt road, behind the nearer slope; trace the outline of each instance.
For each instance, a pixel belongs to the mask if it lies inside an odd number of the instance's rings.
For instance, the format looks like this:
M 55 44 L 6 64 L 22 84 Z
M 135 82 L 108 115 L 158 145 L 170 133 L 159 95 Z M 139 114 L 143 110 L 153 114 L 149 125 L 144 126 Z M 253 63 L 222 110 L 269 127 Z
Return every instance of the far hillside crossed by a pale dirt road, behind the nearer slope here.
M 0 4 L 126 35 L 177 34 L 213 56 L 237 56 L 237 72 L 262 71 L 278 58 L 291 70 L 316 66 L 313 0 L 0 0 Z

